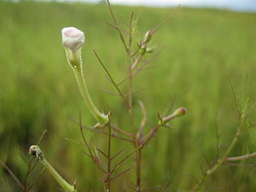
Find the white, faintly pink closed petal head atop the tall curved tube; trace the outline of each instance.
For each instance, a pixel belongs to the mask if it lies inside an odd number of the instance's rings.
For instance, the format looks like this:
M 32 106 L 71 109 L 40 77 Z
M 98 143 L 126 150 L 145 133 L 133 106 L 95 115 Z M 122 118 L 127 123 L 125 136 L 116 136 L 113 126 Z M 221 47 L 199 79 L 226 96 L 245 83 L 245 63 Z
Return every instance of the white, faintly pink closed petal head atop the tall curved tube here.
M 62 44 L 72 51 L 79 50 L 85 42 L 85 34 L 77 28 L 70 26 L 62 29 Z

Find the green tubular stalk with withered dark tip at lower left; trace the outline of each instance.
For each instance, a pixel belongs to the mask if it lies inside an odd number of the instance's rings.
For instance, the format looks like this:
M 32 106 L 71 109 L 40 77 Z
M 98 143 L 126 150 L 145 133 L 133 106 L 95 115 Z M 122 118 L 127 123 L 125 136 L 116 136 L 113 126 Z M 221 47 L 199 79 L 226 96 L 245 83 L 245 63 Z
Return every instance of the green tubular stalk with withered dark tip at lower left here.
M 46 158 L 44 157 L 42 150 L 39 146 L 30 146 L 30 155 L 33 155 L 35 158 L 38 158 L 38 161 L 42 163 L 43 166 L 46 167 L 46 170 L 50 172 L 50 174 L 56 179 L 58 184 L 62 187 L 63 190 L 66 192 L 77 192 L 75 186 L 70 185 L 56 170 L 54 167 L 47 162 Z

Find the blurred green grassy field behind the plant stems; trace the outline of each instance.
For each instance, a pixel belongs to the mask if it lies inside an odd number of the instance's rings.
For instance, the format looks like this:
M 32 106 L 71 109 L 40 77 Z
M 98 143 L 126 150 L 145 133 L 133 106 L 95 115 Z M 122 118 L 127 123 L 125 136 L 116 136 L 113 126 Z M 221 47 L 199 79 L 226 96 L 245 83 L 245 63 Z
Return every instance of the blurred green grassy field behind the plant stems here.
M 130 13 L 139 15 L 138 42 L 146 30 L 162 22 L 173 10 L 114 6 L 123 25 Z M 0 159 L 24 180 L 29 146 L 48 130 L 41 147 L 46 158 L 72 182 L 78 178 L 79 191 L 102 191 L 101 178 L 94 164 L 82 154 L 82 147 L 65 138 L 81 140 L 78 126 L 70 118 L 91 126 L 94 119 L 83 105 L 61 42 L 61 30 L 76 26 L 86 34 L 82 51 L 90 94 L 100 109 L 113 113 L 114 122 L 129 129 L 129 115 L 122 100 L 102 91 L 114 91 L 93 54 L 102 61 L 117 81 L 126 77 L 126 54 L 118 34 L 110 26 L 105 4 L 57 2 L 0 2 Z M 187 114 L 172 123 L 174 128 L 159 130 L 143 152 L 142 183 L 145 186 L 168 184 L 169 190 L 189 190 L 192 177 L 201 178 L 206 168 L 204 155 L 216 154 L 216 130 L 221 144 L 228 144 L 236 131 L 234 98 L 255 100 L 256 95 L 256 14 L 228 10 L 180 8 L 154 35 L 153 43 L 162 52 L 151 66 L 134 78 L 134 100 L 145 103 L 149 122 L 158 121 L 176 95 L 174 108 L 186 106 Z M 247 77 L 247 78 L 246 78 Z M 247 80 L 246 80 L 247 79 Z M 122 90 L 126 91 L 126 84 Z M 136 125 L 142 114 L 134 102 Z M 251 121 L 255 122 L 255 110 Z M 94 134 L 86 132 L 90 138 Z M 106 148 L 106 138 L 94 135 L 97 145 Z M 114 150 L 132 146 L 114 139 Z M 254 152 L 255 130 L 239 138 L 231 155 Z M 251 163 L 253 163 L 252 160 Z M 248 163 L 243 162 L 243 163 Z M 133 158 L 123 166 L 133 167 Z M 35 170 L 34 177 L 38 170 Z M 240 166 L 221 166 L 206 179 L 210 191 L 255 191 L 255 170 Z M 134 170 L 115 182 L 114 191 L 127 191 L 127 181 L 134 182 Z M 18 191 L 2 169 L 1 191 Z M 34 191 L 57 191 L 58 184 L 44 173 Z M 128 190 L 130 191 L 130 190 Z

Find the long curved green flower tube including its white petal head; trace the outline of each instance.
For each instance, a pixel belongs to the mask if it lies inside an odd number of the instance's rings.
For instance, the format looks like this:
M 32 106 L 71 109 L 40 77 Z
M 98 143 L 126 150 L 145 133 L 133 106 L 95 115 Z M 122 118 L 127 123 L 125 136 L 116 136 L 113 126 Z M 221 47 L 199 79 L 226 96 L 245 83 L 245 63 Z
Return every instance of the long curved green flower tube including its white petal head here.
M 90 98 L 89 91 L 86 86 L 86 79 L 82 71 L 82 56 L 81 50 L 85 42 L 85 35 L 81 30 L 75 27 L 65 27 L 62 29 L 62 44 L 66 50 L 67 62 L 70 64 L 74 72 L 74 76 L 78 83 L 78 88 L 82 94 L 82 98 L 100 125 L 104 125 L 109 121 L 106 114 L 102 114 L 94 105 Z

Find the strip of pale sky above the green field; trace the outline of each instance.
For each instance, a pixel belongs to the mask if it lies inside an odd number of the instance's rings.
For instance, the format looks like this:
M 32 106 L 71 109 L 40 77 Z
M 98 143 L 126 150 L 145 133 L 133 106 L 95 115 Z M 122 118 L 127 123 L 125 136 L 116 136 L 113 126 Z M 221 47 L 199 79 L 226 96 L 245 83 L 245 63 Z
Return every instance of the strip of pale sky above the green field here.
M 44 1 L 44 0 L 42 0 Z M 46 0 L 50 1 L 50 0 Z M 56 0 L 55 0 L 56 1 Z M 57 0 L 62 2 L 99 2 L 100 0 Z M 113 4 L 134 6 L 206 6 L 256 12 L 256 0 L 110 0 Z

